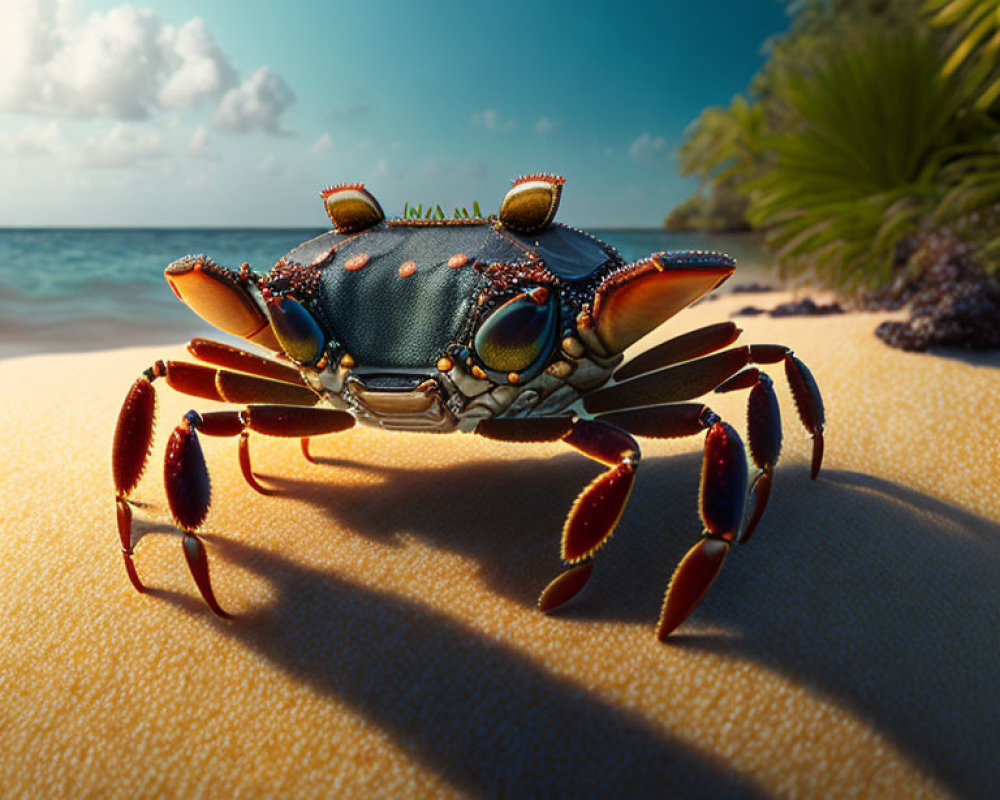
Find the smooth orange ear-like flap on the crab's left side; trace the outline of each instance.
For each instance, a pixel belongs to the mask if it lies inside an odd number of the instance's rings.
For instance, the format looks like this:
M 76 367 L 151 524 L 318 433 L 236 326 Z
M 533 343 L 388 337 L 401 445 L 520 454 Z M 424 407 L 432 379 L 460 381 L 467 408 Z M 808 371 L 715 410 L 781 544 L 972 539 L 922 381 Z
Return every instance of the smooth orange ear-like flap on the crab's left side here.
M 281 349 L 267 315 L 237 273 L 205 256 L 185 256 L 163 276 L 181 302 L 206 322 L 271 350 Z

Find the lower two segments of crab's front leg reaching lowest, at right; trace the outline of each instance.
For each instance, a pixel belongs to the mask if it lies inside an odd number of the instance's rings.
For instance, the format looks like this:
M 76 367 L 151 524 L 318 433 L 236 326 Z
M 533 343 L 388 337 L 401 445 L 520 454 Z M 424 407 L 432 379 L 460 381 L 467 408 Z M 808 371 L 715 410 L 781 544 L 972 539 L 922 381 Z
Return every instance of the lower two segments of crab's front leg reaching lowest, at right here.
M 716 422 L 705 437 L 701 467 L 701 518 L 704 538 L 677 566 L 663 601 L 657 636 L 666 639 L 705 596 L 729 552 L 743 520 L 747 496 L 747 460 L 732 426 Z

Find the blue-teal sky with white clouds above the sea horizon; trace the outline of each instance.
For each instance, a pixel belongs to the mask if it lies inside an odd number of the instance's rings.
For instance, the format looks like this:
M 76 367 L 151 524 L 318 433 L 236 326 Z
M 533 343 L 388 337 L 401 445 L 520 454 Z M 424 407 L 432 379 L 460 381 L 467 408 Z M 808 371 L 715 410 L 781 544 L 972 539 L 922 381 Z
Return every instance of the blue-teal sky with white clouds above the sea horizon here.
M 0 227 L 322 227 L 319 191 L 656 227 L 779 0 L 0 0 Z

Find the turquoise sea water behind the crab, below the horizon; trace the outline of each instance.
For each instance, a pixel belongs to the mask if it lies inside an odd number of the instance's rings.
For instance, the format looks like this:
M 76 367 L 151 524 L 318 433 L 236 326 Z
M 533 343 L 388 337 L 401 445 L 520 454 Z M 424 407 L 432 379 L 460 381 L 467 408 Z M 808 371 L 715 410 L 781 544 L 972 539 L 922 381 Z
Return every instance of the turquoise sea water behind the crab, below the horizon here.
M 167 286 L 186 253 L 267 272 L 321 229 L 0 229 L 0 356 L 180 342 L 217 335 Z M 739 262 L 729 284 L 767 280 L 759 241 L 746 235 L 600 230 L 628 260 L 658 250 L 722 250 Z M 727 284 L 727 286 L 729 286 Z

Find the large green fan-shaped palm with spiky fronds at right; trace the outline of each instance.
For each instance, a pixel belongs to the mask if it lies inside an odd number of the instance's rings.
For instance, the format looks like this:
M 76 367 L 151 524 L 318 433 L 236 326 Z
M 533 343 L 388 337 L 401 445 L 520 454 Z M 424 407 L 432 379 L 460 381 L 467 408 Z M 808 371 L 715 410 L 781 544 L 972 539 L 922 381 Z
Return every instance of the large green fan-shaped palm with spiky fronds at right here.
M 916 28 L 833 41 L 773 87 L 784 130 L 749 185 L 750 221 L 785 271 L 833 285 L 888 279 L 897 242 L 944 194 L 972 119 L 970 83 Z

